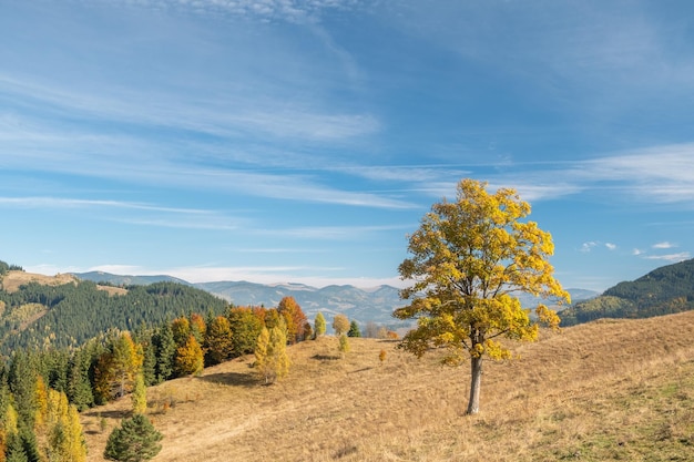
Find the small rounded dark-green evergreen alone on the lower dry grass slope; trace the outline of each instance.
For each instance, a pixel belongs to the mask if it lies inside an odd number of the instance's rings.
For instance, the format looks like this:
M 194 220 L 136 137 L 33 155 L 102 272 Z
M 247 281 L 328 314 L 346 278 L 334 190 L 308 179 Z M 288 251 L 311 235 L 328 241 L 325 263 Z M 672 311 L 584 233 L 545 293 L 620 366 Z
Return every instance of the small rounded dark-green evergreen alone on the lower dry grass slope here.
M 144 414 L 135 414 L 123 421 L 109 435 L 104 458 L 120 462 L 144 462 L 162 450 L 162 434 Z

